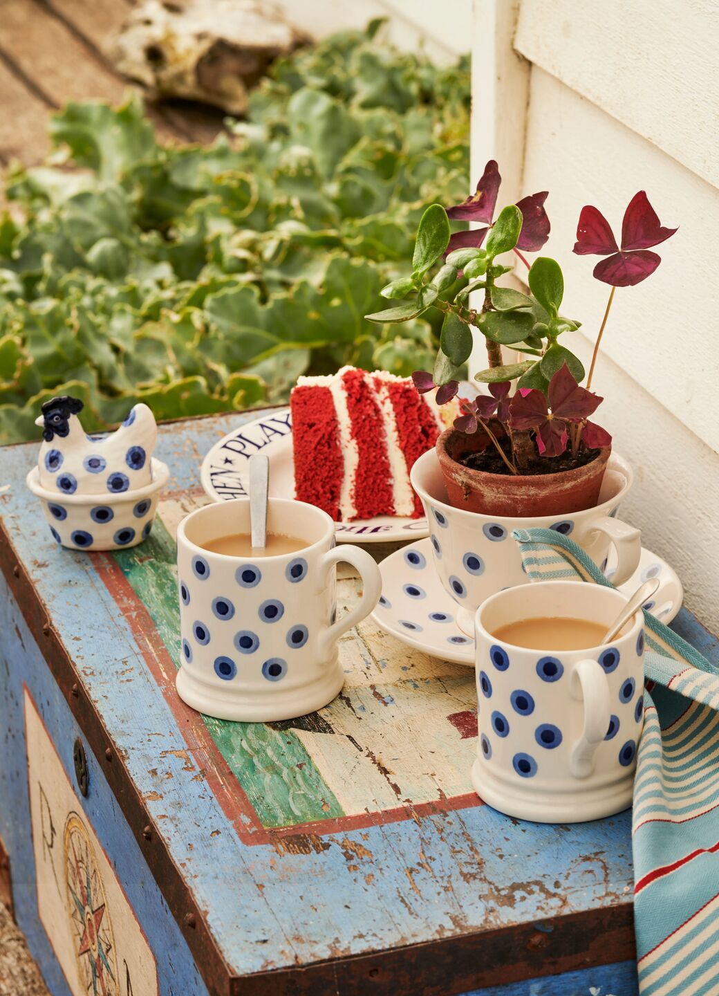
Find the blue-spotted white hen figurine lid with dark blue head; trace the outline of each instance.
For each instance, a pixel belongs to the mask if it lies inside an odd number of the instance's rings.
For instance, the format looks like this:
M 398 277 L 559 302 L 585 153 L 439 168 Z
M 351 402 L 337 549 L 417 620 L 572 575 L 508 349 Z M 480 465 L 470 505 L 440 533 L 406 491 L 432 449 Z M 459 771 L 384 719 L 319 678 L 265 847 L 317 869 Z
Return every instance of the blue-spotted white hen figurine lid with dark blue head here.
M 151 483 L 157 425 L 150 408 L 135 404 L 115 432 L 88 435 L 78 417 L 83 406 L 67 394 L 43 404 L 36 421 L 43 427 L 38 458 L 42 487 L 66 495 L 99 495 Z

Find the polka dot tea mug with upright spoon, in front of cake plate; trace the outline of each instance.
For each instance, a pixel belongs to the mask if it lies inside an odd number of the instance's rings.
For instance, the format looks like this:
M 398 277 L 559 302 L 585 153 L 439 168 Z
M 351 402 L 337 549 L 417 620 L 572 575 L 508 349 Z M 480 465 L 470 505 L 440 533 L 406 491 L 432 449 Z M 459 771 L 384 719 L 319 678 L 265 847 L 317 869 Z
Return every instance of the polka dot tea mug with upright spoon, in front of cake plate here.
M 220 537 L 249 534 L 248 498 L 198 509 L 177 530 L 177 692 L 193 709 L 218 719 L 271 722 L 327 705 L 345 683 L 337 641 L 379 600 L 374 560 L 360 547 L 336 547 L 335 523 L 326 512 L 270 498 L 267 529 L 306 546 L 270 557 L 205 549 Z M 356 568 L 363 592 L 337 620 L 341 562 Z

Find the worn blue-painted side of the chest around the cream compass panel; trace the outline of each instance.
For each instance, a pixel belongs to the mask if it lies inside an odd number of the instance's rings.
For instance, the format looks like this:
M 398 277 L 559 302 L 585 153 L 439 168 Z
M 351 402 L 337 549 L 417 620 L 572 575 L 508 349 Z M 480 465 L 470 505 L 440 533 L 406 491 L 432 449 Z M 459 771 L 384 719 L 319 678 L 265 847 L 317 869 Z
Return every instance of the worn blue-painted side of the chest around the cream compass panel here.
M 30 833 L 30 801 L 25 752 L 23 683 L 27 685 L 71 783 L 75 784 L 73 746 L 82 730 L 0 574 L 0 837 L 10 855 L 13 903 L 18 925 L 28 939 L 53 996 L 71 996 L 45 930 L 38 919 L 35 857 Z M 110 856 L 120 884 L 155 953 L 161 996 L 207 996 L 179 927 L 147 868 L 100 764 L 88 752 L 91 791 L 78 795 L 82 810 Z M 62 828 L 57 828 L 60 832 Z M 55 846 L 60 842 L 56 839 Z M 161 956 L 158 957 L 157 955 Z M 122 989 L 124 996 L 124 989 Z

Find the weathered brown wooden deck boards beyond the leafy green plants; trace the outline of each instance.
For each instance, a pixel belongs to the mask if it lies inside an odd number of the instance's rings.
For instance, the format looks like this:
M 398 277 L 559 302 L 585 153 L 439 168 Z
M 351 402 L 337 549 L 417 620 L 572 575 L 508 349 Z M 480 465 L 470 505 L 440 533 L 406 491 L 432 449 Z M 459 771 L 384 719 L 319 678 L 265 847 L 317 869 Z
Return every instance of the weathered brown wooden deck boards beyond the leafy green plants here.
M 67 101 L 120 103 L 130 85 L 107 51 L 131 7 L 131 0 L 3 0 L 0 165 L 41 162 L 50 115 Z M 222 113 L 200 105 L 163 102 L 147 111 L 166 141 L 207 142 L 222 128 Z

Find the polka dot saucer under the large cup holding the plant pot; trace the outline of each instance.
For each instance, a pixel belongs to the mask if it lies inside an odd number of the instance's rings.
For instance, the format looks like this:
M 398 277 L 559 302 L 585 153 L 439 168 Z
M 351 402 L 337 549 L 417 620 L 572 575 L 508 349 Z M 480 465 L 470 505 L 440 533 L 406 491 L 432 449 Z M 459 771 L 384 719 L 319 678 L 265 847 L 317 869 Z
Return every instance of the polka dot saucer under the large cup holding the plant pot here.
M 613 573 L 613 552 L 609 554 L 606 576 Z M 447 595 L 434 570 L 428 539 L 403 547 L 379 565 L 382 595 L 371 618 L 385 632 L 417 650 L 474 666 L 474 639 L 456 622 L 458 606 Z M 618 591 L 628 597 L 643 581 L 658 578 L 659 587 L 644 606 L 661 622 L 671 622 L 681 609 L 681 582 L 666 561 L 642 548 L 635 573 Z

